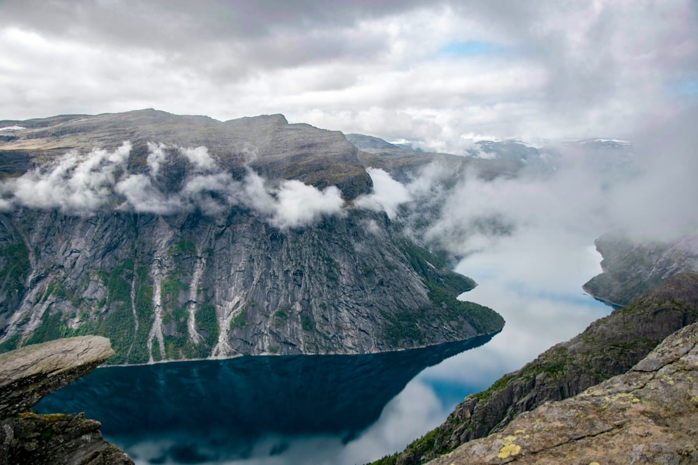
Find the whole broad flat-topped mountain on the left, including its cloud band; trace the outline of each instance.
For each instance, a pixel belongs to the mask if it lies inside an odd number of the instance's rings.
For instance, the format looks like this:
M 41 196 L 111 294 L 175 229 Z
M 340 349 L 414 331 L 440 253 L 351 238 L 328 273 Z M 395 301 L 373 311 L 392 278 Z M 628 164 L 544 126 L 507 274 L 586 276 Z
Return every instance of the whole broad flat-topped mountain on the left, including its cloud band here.
M 109 363 L 373 353 L 491 335 L 383 212 L 340 132 L 156 110 L 0 121 L 0 350 L 110 337 Z M 20 129 L 16 129 L 20 127 Z

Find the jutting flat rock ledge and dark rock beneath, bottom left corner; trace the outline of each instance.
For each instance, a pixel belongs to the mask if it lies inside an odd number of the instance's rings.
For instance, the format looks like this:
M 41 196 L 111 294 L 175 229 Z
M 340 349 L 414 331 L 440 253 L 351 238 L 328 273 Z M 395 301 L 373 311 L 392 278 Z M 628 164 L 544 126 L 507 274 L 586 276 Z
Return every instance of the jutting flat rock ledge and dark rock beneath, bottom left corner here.
M 102 439 L 98 421 L 29 411 L 113 353 L 104 337 L 84 336 L 0 354 L 0 464 L 133 464 Z

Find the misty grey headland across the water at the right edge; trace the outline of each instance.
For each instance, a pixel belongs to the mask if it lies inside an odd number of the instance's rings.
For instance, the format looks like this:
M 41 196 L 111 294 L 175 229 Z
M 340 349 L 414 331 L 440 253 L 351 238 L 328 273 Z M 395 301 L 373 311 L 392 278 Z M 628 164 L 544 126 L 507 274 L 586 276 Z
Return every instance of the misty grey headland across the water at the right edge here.
M 602 255 L 603 273 L 584 284 L 584 290 L 611 305 L 628 305 L 667 277 L 698 271 L 698 236 L 668 241 L 637 241 L 620 233 L 595 241 Z

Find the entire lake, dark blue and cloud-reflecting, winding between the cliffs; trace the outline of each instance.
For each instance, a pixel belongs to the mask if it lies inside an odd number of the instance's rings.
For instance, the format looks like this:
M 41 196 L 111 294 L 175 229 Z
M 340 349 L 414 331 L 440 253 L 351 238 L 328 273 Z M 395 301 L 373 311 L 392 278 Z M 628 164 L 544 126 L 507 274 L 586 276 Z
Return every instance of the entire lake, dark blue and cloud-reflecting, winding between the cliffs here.
M 401 450 L 466 395 L 609 313 L 581 291 L 599 257 L 565 247 L 563 266 L 526 247 L 513 261 L 510 250 L 494 250 L 459 264 L 480 283 L 462 298 L 507 321 L 491 340 L 360 356 L 104 367 L 37 409 L 84 411 L 138 464 L 369 462 Z M 560 258 L 559 250 L 550 253 Z

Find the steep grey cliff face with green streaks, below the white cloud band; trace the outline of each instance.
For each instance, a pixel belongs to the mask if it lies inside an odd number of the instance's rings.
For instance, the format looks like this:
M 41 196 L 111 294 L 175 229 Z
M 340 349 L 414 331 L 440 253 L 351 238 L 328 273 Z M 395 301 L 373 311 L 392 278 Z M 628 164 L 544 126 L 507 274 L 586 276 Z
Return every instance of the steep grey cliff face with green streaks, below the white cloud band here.
M 24 209 L 0 244 L 26 254 L 0 295 L 6 349 L 70 335 L 112 340 L 111 363 L 260 353 L 368 353 L 491 334 L 503 320 L 455 297 L 443 269 L 383 214 L 350 209 L 281 230 L 218 216 Z

